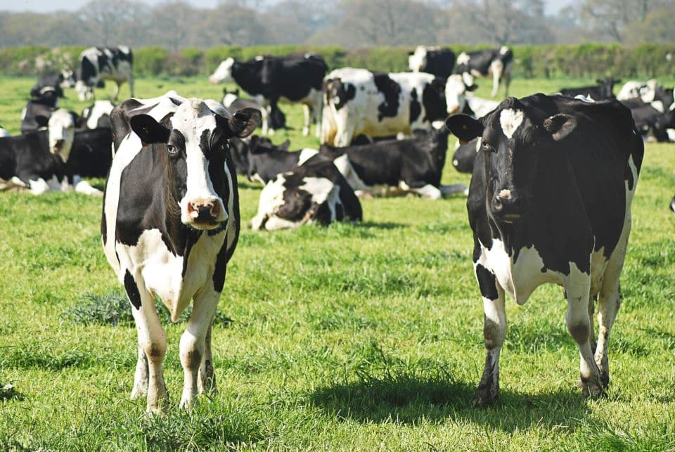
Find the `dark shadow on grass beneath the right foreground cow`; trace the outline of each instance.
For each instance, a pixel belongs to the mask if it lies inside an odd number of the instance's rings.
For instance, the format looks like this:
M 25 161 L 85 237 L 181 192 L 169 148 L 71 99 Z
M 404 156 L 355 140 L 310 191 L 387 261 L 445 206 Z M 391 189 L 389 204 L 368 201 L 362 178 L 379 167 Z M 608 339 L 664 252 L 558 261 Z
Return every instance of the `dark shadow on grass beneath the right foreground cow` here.
M 473 405 L 477 382 L 418 377 L 368 378 L 321 387 L 310 394 L 314 406 L 338 420 L 391 422 L 407 425 L 468 421 L 503 432 L 530 427 L 567 426 L 583 422 L 591 412 L 576 388 L 541 394 L 501 389 L 493 406 Z

